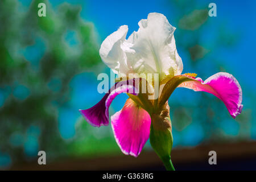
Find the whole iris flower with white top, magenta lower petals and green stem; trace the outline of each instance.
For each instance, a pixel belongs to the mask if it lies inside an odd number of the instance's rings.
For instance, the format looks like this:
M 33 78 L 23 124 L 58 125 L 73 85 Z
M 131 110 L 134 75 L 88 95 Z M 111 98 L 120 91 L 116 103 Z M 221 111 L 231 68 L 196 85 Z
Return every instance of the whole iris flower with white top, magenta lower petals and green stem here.
M 129 98 L 123 108 L 110 118 L 118 146 L 124 154 L 137 157 L 150 138 L 152 148 L 166 169 L 174 170 L 168 106 L 168 98 L 174 89 L 183 87 L 211 93 L 224 102 L 233 118 L 242 111 L 242 89 L 236 78 L 229 73 L 216 73 L 205 81 L 196 77 L 195 73 L 181 74 L 183 63 L 174 39 L 176 28 L 171 26 L 163 14 L 150 13 L 147 19 L 140 20 L 138 24 L 138 31 L 134 31 L 128 39 L 128 27 L 119 27 L 102 42 L 100 48 L 101 59 L 118 77 L 130 78 L 129 74 L 137 77 L 116 82 L 98 104 L 80 110 L 80 113 L 92 126 L 108 126 L 108 110 L 115 96 L 133 90 L 127 93 Z M 138 76 L 148 73 L 158 74 L 158 80 Z M 155 83 L 158 83 L 157 98 L 149 98 L 152 92 L 136 92 L 142 89 L 143 79 L 151 88 L 155 88 Z M 139 82 L 139 86 L 135 82 Z

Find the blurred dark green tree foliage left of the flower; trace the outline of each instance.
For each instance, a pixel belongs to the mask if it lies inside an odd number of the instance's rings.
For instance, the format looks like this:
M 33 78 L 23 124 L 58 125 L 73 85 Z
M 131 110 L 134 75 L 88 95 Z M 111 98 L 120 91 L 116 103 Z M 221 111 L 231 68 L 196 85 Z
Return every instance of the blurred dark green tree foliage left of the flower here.
M 38 16 L 40 2 L 46 17 Z M 57 108 L 71 99 L 71 78 L 101 61 L 93 24 L 80 18 L 80 6 L 63 3 L 55 12 L 36 0 L 20 9 L 16 0 L 0 1 L 0 151 L 13 163 L 37 155 L 31 144 L 48 151 L 47 158 L 66 154 Z

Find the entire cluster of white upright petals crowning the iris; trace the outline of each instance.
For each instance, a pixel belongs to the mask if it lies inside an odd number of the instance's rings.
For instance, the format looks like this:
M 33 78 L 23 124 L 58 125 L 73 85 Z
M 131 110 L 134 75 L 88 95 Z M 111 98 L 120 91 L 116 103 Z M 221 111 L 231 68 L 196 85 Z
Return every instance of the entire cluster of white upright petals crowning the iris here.
M 148 14 L 139 21 L 139 30 L 126 40 L 127 26 L 121 26 L 109 35 L 101 45 L 102 60 L 115 73 L 159 73 L 180 75 L 183 63 L 177 53 L 174 31 L 166 16 Z

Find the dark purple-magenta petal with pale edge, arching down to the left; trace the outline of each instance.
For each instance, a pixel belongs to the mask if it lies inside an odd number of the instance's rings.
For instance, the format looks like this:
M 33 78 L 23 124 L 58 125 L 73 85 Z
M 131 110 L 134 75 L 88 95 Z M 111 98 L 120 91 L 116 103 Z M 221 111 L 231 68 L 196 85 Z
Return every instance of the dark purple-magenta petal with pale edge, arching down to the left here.
M 138 78 L 134 78 L 130 81 L 121 81 L 116 83 L 105 96 L 93 107 L 85 110 L 79 110 L 82 117 L 95 127 L 108 126 L 109 125 L 109 106 L 114 100 L 115 96 L 120 93 L 131 93 L 137 95 L 137 86 L 135 82 Z

